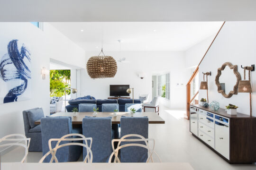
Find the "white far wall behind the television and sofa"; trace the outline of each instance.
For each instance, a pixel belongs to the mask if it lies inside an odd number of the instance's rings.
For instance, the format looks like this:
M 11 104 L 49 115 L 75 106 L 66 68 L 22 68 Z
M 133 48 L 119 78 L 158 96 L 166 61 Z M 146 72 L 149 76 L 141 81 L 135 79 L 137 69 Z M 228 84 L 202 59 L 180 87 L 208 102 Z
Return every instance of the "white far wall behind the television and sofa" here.
M 98 53 L 99 51 L 86 51 L 87 60 Z M 105 51 L 105 54 L 119 59 L 119 51 Z M 165 104 L 170 108 L 185 108 L 185 85 L 176 86 L 176 83 L 185 84 L 187 81 L 184 78 L 184 52 L 122 51 L 121 56 L 131 62 L 117 62 L 118 71 L 114 78 L 91 79 L 87 71 L 82 70 L 82 96 L 92 95 L 96 99 L 106 99 L 110 95 L 110 85 L 128 84 L 134 87 L 135 98 L 138 98 L 139 93 L 149 93 L 151 99 L 152 73 L 170 72 L 171 99 Z M 140 79 L 138 72 L 145 72 L 145 78 Z

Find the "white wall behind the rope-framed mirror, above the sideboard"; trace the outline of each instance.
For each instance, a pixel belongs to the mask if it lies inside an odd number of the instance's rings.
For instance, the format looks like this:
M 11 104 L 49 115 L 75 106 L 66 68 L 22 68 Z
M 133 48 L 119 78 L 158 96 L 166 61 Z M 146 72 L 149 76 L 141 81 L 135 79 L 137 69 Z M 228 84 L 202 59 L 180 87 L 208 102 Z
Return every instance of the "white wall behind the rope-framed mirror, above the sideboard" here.
M 215 76 L 217 69 L 227 61 L 238 65 L 238 71 L 243 79 L 243 69 L 240 65 L 250 66 L 256 64 L 256 22 L 226 22 L 215 42 L 208 51 L 199 67 L 199 73 L 211 71 L 209 76 L 209 101 L 218 101 L 224 108 L 229 103 L 237 105 L 238 112 L 249 114 L 249 93 L 238 93 L 231 98 L 224 98 L 217 92 Z M 248 73 L 247 73 L 248 74 Z M 253 115 L 256 116 L 256 72 L 252 72 L 252 106 Z M 202 75 L 199 76 L 202 81 Z M 248 78 L 248 76 L 247 76 Z M 230 79 L 227 79 L 230 82 Z M 200 90 L 199 98 L 206 98 L 206 91 Z

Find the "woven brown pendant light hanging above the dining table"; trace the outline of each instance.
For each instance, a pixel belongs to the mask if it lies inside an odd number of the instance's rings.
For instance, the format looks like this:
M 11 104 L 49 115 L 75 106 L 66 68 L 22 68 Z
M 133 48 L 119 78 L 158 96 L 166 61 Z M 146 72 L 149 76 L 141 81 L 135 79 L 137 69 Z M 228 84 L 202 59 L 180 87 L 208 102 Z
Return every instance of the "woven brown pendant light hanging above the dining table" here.
M 101 52 L 98 56 L 91 57 L 86 64 L 87 73 L 91 78 L 110 78 L 117 73 L 117 62 L 103 52 L 103 28 L 101 33 Z

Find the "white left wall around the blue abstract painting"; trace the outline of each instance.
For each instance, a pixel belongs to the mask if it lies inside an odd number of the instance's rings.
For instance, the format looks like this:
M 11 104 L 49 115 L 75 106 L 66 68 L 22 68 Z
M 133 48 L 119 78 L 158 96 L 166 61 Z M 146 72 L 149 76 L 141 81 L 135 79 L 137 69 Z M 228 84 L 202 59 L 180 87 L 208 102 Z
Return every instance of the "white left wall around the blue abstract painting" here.
M 44 66 L 49 71 L 50 58 L 77 66 L 84 63 L 85 52 L 81 48 L 48 23 L 45 23 L 44 29 L 41 31 L 31 23 L 0 23 L 0 57 L 7 53 L 9 41 L 18 39 L 30 49 L 32 70 L 31 100 L 0 105 L 0 137 L 12 133 L 24 134 L 22 110 L 42 107 L 45 114 L 49 114 L 49 74 L 43 80 L 41 68 Z

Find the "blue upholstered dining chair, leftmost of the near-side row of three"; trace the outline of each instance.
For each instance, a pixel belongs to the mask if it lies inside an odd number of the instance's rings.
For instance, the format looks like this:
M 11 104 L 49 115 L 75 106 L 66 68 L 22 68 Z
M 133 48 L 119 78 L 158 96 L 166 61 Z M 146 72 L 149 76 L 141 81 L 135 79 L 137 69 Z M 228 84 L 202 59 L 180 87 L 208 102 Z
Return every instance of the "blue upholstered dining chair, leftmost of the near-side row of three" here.
M 41 119 L 42 128 L 42 144 L 43 155 L 49 151 L 48 141 L 52 138 L 61 138 L 64 135 L 72 134 L 72 118 L 71 117 L 48 117 Z M 68 143 L 68 141 L 61 144 Z M 56 142 L 52 142 L 54 148 Z M 66 146 L 58 149 L 56 157 L 59 162 L 77 161 L 81 155 L 81 146 Z M 47 156 L 44 162 L 51 160 L 51 155 Z

